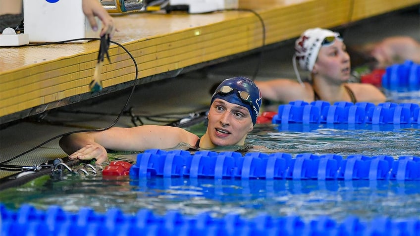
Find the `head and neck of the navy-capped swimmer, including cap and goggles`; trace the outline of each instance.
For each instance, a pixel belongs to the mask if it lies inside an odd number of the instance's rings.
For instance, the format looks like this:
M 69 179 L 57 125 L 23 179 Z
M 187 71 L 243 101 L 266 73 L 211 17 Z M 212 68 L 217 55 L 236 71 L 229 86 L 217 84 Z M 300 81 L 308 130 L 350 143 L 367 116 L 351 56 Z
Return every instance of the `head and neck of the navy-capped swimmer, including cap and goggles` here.
M 224 80 L 211 97 L 209 125 L 201 142 L 211 141 L 213 146 L 243 145 L 254 129 L 260 106 L 260 90 L 250 79 Z

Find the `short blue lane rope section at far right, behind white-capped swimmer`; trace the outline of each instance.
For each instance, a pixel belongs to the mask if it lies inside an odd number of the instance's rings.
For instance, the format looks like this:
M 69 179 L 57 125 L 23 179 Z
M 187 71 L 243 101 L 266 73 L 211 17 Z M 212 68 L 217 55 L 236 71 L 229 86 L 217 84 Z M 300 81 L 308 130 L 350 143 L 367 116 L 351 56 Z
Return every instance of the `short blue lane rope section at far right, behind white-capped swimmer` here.
M 390 91 L 419 91 L 420 64 L 407 60 L 403 64 L 386 67 L 382 87 Z

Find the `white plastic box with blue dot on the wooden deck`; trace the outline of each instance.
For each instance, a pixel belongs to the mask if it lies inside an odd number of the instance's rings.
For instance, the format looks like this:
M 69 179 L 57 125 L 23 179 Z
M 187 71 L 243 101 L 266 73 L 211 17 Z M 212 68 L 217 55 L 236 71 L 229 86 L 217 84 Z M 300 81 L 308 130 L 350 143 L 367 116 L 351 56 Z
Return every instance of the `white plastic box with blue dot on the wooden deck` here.
M 99 38 L 82 9 L 82 0 L 23 0 L 23 30 L 29 42 Z M 80 42 L 80 41 L 79 41 Z

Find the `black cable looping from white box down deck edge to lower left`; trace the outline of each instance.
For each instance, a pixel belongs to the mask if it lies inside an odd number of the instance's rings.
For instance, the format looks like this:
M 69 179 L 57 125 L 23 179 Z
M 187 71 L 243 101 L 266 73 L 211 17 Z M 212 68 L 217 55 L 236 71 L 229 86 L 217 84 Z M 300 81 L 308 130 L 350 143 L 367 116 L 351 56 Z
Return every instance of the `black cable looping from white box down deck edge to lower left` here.
M 80 39 L 64 40 L 64 41 L 52 42 L 52 43 L 30 44 L 30 46 L 43 46 L 43 45 L 51 45 L 51 44 L 64 44 L 64 43 L 69 43 L 69 42 L 74 42 L 74 41 L 83 41 L 83 40 L 95 40 L 95 41 L 97 41 L 97 40 L 101 40 L 101 39 L 100 39 L 100 38 L 80 38 Z M 115 121 L 114 121 L 111 125 L 109 125 L 109 126 L 107 126 L 107 127 L 105 127 L 105 128 L 95 129 L 95 130 L 77 130 L 77 131 L 71 131 L 71 132 L 67 132 L 67 133 L 64 133 L 64 134 L 61 134 L 61 135 L 57 135 L 57 136 L 55 136 L 55 137 L 52 137 L 51 139 L 49 139 L 49 140 L 47 140 L 47 141 L 45 141 L 45 142 L 43 142 L 43 143 L 41 143 L 41 144 L 39 144 L 39 145 L 37 145 L 37 146 L 33 147 L 33 148 L 31 148 L 31 149 L 29 149 L 29 150 L 27 150 L 27 151 L 24 151 L 24 152 L 22 152 L 22 153 L 20 153 L 20 154 L 18 154 L 18 155 L 16 155 L 16 156 L 14 156 L 14 157 L 12 157 L 12 158 L 9 158 L 9 159 L 7 159 L 7 160 L 5 160 L 5 161 L 0 162 L 0 169 L 1 169 L 1 170 L 4 170 L 4 169 L 10 169 L 10 170 L 11 170 L 11 169 L 15 169 L 15 168 L 17 168 L 18 166 L 15 166 L 15 165 L 5 165 L 5 163 L 8 163 L 8 162 L 10 162 L 10 161 L 12 161 L 12 160 L 14 160 L 14 159 L 16 159 L 16 158 L 20 157 L 20 156 L 23 156 L 23 155 L 25 155 L 25 154 L 27 154 L 27 153 L 29 153 L 29 152 L 31 152 L 31 151 L 33 151 L 33 150 L 35 150 L 35 149 L 37 149 L 37 148 L 39 148 L 39 147 L 41 147 L 41 146 L 45 145 L 45 144 L 46 144 L 46 143 L 48 143 L 48 142 L 53 141 L 53 140 L 55 140 L 55 139 L 58 139 L 58 138 L 60 138 L 60 137 L 66 136 L 66 135 L 75 134 L 75 133 L 104 131 L 104 130 L 107 130 L 107 129 L 109 129 L 109 128 L 113 127 L 113 126 L 114 126 L 114 125 L 118 122 L 119 118 L 121 117 L 121 115 L 123 114 L 123 112 L 124 112 L 125 108 L 127 107 L 128 102 L 129 102 L 129 100 L 130 100 L 131 96 L 132 96 L 132 95 L 133 95 L 133 93 L 134 93 L 134 89 L 136 88 L 137 76 L 138 76 L 138 67 L 137 67 L 137 62 L 136 62 L 136 59 L 134 59 L 133 55 L 132 55 L 132 54 L 131 54 L 128 50 L 127 50 L 127 48 L 125 48 L 124 46 L 122 46 L 121 44 L 119 44 L 119 43 L 117 43 L 117 42 L 114 42 L 114 41 L 111 41 L 111 40 L 109 40 L 109 42 L 110 42 L 110 43 L 113 43 L 113 44 L 115 44 L 115 45 L 117 45 L 117 46 L 119 46 L 119 47 L 121 47 L 122 49 L 124 49 L 124 50 L 125 50 L 125 52 L 127 52 L 127 54 L 130 56 L 130 58 L 133 60 L 133 62 L 134 62 L 134 66 L 135 66 L 135 68 L 136 68 L 136 75 L 135 75 L 135 79 L 134 79 L 134 85 L 133 85 L 133 88 L 131 89 L 131 93 L 129 94 L 129 96 L 128 96 L 128 98 L 127 98 L 127 100 L 126 100 L 125 104 L 124 104 L 124 107 L 121 109 L 121 112 L 118 114 L 118 116 L 117 116 L 117 118 L 115 119 Z M 20 167 L 20 168 L 21 168 L 21 167 Z M 17 170 L 17 169 L 15 169 L 15 170 Z M 20 169 L 19 169 L 19 170 L 20 170 Z

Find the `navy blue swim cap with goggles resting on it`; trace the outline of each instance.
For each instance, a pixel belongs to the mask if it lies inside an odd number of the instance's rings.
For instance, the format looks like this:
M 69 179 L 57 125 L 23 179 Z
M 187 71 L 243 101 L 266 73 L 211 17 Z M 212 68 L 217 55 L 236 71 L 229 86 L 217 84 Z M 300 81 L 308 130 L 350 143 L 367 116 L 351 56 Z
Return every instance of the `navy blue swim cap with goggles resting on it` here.
M 245 77 L 233 77 L 226 79 L 220 83 L 214 94 L 211 96 L 210 105 L 216 98 L 220 98 L 240 106 L 245 106 L 251 114 L 252 123 L 255 125 L 257 122 L 262 99 L 260 89 L 258 89 L 257 85 L 252 80 Z

